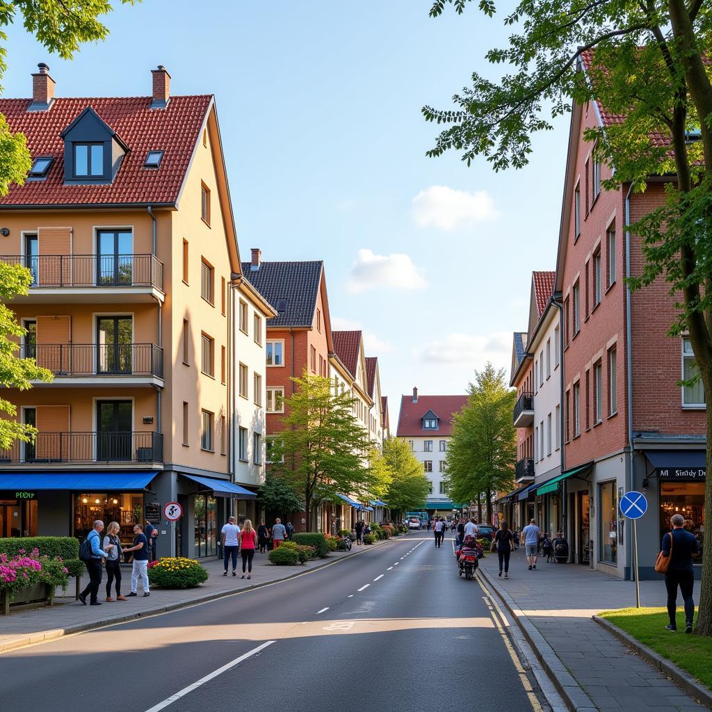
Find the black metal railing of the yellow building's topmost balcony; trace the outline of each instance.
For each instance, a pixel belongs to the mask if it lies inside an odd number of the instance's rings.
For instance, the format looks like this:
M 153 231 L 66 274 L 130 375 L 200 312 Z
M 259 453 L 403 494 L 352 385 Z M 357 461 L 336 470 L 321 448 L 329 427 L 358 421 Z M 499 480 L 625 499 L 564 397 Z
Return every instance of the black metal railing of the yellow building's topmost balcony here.
M 32 288 L 156 287 L 163 290 L 163 263 L 155 255 L 2 255 L 32 274 Z

